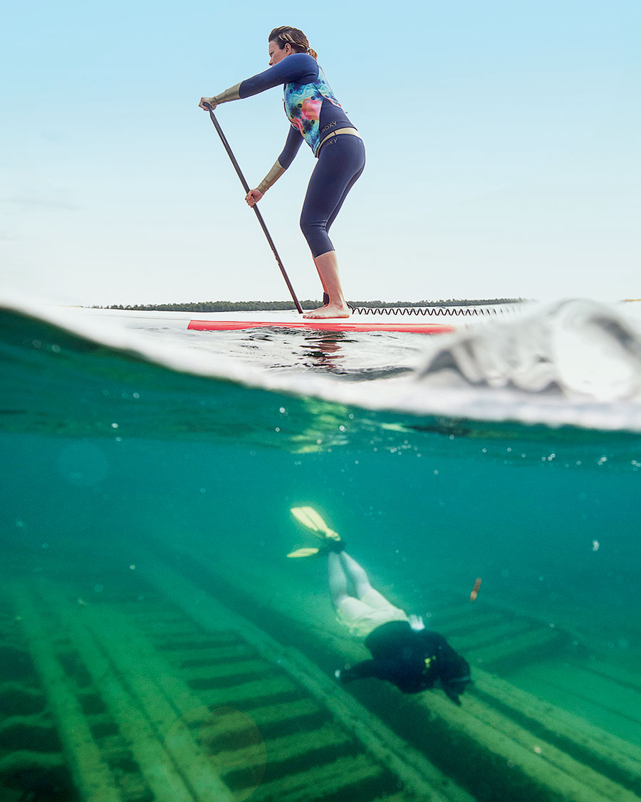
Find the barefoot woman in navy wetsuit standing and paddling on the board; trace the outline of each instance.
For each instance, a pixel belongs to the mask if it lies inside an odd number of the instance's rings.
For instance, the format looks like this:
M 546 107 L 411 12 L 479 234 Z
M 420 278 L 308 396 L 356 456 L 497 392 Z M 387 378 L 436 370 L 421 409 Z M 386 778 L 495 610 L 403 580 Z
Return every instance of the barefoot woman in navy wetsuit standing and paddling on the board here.
M 347 318 L 350 309 L 343 295 L 336 252 L 328 233 L 347 193 L 363 172 L 365 146 L 327 84 L 318 66 L 317 54 L 310 49 L 302 30 L 290 26 L 274 28 L 269 36 L 269 55 L 268 70 L 219 95 L 202 97 L 199 106 L 209 111 L 230 100 L 258 95 L 280 85 L 284 87 L 285 111 L 291 124 L 285 148 L 258 187 L 250 189 L 245 201 L 253 206 L 261 200 L 290 166 L 305 140 L 318 163 L 307 187 L 300 225 L 323 284 L 325 303 L 303 317 Z

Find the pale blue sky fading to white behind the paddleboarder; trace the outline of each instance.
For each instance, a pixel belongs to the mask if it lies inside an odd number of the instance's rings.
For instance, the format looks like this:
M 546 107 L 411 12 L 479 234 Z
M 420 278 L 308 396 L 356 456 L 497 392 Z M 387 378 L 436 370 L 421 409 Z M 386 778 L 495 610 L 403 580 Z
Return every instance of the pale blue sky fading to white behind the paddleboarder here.
M 284 300 L 209 116 L 305 31 L 367 167 L 331 231 L 351 300 L 641 298 L 641 3 L 11 3 L 0 290 L 81 305 Z M 280 87 L 217 109 L 254 187 Z M 299 298 L 303 145 L 261 201 Z

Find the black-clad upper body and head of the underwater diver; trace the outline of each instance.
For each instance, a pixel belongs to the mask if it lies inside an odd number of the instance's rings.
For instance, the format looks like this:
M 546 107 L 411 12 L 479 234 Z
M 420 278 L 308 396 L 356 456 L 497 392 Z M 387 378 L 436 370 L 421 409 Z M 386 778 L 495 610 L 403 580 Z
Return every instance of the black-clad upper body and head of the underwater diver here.
M 443 690 L 456 704 L 458 695 L 470 682 L 469 663 L 448 644 L 443 635 L 429 630 L 412 630 L 406 621 L 381 624 L 365 638 L 372 660 L 343 669 L 342 683 L 376 677 L 386 679 L 406 694 L 434 687 Z

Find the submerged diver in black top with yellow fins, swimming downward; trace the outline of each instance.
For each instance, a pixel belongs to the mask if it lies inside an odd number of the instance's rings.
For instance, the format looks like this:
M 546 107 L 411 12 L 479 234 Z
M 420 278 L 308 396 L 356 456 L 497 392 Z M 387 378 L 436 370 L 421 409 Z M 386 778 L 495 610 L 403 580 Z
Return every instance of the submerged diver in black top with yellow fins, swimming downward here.
M 345 542 L 311 507 L 294 507 L 294 517 L 323 541 L 320 548 L 296 549 L 287 557 L 327 553 L 331 600 L 338 621 L 356 638 L 364 638 L 371 660 L 335 672 L 340 683 L 375 677 L 406 694 L 440 687 L 460 705 L 460 694 L 472 682 L 469 663 L 445 638 L 426 630 L 420 616 L 409 615 L 388 602 L 371 586 L 358 562 L 345 551 Z M 351 582 L 355 595 L 348 592 Z

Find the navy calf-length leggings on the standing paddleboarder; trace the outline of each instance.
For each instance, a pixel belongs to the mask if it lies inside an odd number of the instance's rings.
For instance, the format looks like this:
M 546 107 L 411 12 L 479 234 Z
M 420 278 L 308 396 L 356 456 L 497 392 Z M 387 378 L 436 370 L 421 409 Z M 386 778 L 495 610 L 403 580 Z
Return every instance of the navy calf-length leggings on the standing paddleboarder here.
M 301 212 L 302 233 L 314 259 L 334 250 L 327 233 L 364 168 L 365 146 L 358 136 L 339 134 L 320 149 Z

